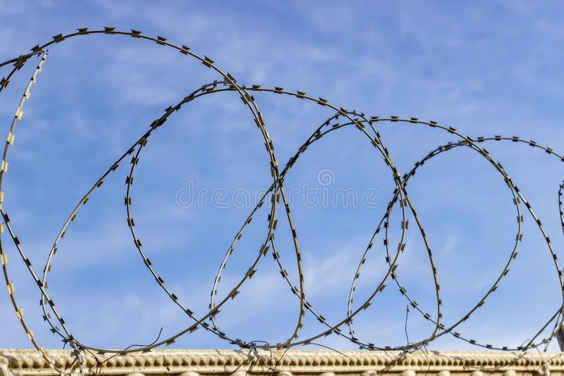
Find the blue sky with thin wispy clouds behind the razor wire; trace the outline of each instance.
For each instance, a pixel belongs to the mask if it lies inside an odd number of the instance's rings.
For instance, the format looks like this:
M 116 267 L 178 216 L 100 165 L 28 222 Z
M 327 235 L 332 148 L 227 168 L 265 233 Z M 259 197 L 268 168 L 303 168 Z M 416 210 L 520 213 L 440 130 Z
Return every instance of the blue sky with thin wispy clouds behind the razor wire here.
M 240 84 L 300 90 L 367 115 L 436 120 L 472 137 L 520 136 L 564 152 L 563 15 L 561 4 L 547 1 L 157 5 L 0 0 L 0 61 L 77 27 L 133 28 L 190 46 Z M 30 61 L 0 94 L 6 134 L 34 66 Z M 1 68 L 0 75 L 5 72 Z M 93 35 L 51 46 L 18 125 L 3 187 L 4 208 L 38 272 L 61 225 L 90 185 L 164 108 L 219 79 L 176 51 L 128 37 Z M 281 164 L 333 115 L 285 96 L 258 93 L 255 99 Z M 421 125 L 378 127 L 402 173 L 431 149 L 455 141 Z M 332 322 L 346 313 L 357 263 L 393 192 L 381 156 L 359 136 L 350 127 L 329 134 L 300 157 L 285 182 L 287 190 L 298 192 L 292 211 L 303 253 L 305 293 Z M 262 142 L 240 99 L 219 93 L 171 116 L 140 158 L 133 185 L 137 233 L 167 285 L 198 315 L 207 312 L 223 253 L 250 211 L 235 205 L 234 192 L 254 197 L 271 184 Z M 562 256 L 556 192 L 563 174 L 558 159 L 525 144 L 484 146 L 532 203 Z M 516 231 L 515 208 L 503 179 L 477 153 L 458 149 L 427 162 L 407 189 L 434 251 L 445 322 L 458 320 L 489 289 L 507 261 Z M 321 171 L 330 172 L 331 184 L 320 184 Z M 127 173 L 125 168 L 116 170 L 81 210 L 49 277 L 49 292 L 75 337 L 103 348 L 149 343 L 161 327 L 168 337 L 191 324 L 152 280 L 131 242 L 123 206 Z M 305 187 L 329 194 L 336 189 L 360 194 L 373 190 L 375 205 L 309 207 Z M 202 205 L 178 202 L 179 194 L 189 189 L 209 192 Z M 226 192 L 220 201 L 228 209 L 214 205 L 211 192 L 218 189 Z M 398 211 L 391 223 L 398 230 Z M 410 221 L 398 275 L 414 299 L 432 312 L 429 262 L 414 224 Z M 296 280 L 288 226 L 283 220 L 280 225 L 278 251 Z M 265 231 L 263 209 L 228 261 L 219 295 L 242 277 Z M 561 305 L 556 270 L 530 216 L 525 215 L 523 232 L 508 277 L 474 318 L 459 327 L 466 337 L 519 346 Z M 399 232 L 391 238 L 397 242 Z M 39 292 L 6 236 L 2 244 L 25 318 L 42 345 L 59 348 L 60 339 L 42 322 Z M 381 239 L 375 244 L 355 302 L 369 294 L 386 270 Z M 389 289 L 355 320 L 357 337 L 381 346 L 405 344 L 406 305 L 396 287 Z M 226 304 L 218 322 L 233 337 L 275 343 L 291 333 L 297 308 L 269 256 L 243 292 Z M 0 322 L 0 348 L 30 346 L 7 294 L 0 295 Z M 413 310 L 407 326 L 410 341 L 432 330 Z M 321 329 L 307 315 L 300 338 Z M 354 349 L 338 337 L 319 342 Z M 173 344 L 189 349 L 230 346 L 203 330 Z M 471 347 L 444 336 L 431 348 Z M 551 344 L 550 349 L 556 348 Z

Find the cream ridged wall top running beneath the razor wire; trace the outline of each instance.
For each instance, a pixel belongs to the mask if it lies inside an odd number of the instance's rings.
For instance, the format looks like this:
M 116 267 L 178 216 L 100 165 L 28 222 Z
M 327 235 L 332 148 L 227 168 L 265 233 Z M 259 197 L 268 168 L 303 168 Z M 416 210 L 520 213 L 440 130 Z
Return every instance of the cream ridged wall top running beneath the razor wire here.
M 85 354 L 85 375 L 560 376 L 564 353 L 481 351 L 155 350 L 121 356 Z M 71 351 L 48 350 L 57 368 L 78 373 Z M 0 350 L 0 376 L 59 375 L 39 351 Z M 102 363 L 103 362 L 103 363 Z M 101 364 L 102 363 L 102 364 Z

